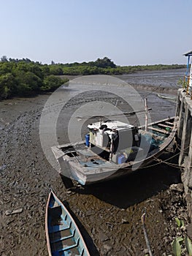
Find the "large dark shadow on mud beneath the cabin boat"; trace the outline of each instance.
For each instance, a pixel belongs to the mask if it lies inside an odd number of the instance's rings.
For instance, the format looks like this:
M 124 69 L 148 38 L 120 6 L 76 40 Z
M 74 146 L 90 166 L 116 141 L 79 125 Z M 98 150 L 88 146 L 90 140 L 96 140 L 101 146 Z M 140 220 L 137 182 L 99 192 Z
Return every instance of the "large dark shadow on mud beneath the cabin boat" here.
M 92 184 L 72 191 L 91 194 L 118 208 L 128 208 L 180 183 L 180 169 L 161 164 L 136 170 L 134 173 L 112 181 Z

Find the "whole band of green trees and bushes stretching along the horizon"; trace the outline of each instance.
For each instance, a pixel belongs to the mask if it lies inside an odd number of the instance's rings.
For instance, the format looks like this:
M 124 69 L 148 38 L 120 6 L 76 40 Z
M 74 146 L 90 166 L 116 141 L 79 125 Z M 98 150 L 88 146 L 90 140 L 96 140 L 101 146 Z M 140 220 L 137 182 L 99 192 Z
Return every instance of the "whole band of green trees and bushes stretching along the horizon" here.
M 74 62 L 72 64 L 41 64 L 30 59 L 7 59 L 0 61 L 0 99 L 14 96 L 31 96 L 41 92 L 53 91 L 69 79 L 60 75 L 122 75 L 137 71 L 179 69 L 185 65 L 146 65 L 120 67 L 109 58 L 96 61 Z

